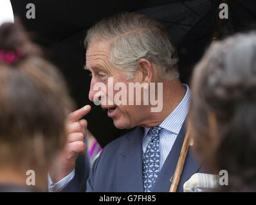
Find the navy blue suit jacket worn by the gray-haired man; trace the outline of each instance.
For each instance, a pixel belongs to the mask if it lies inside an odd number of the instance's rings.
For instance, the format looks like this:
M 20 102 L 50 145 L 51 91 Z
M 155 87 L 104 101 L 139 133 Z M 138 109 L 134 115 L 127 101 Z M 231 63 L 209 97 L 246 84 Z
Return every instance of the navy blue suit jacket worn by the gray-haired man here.
M 93 163 L 87 192 L 143 192 L 142 177 L 142 138 L 143 127 L 136 127 L 130 133 L 109 143 Z M 170 178 L 173 176 L 186 133 L 185 123 L 169 153 L 152 192 L 169 192 Z M 177 192 L 183 192 L 185 181 L 200 170 L 199 163 L 194 160 L 191 150 L 181 174 Z M 68 184 L 66 191 L 79 191 L 76 177 Z

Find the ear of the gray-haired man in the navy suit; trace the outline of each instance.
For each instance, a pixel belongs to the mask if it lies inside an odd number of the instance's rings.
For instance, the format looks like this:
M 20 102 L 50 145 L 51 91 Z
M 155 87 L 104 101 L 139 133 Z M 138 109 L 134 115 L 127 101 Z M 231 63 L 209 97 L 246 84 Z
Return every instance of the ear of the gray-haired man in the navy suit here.
M 154 68 L 150 61 L 145 58 L 138 60 L 139 80 L 141 83 L 151 83 L 154 76 Z

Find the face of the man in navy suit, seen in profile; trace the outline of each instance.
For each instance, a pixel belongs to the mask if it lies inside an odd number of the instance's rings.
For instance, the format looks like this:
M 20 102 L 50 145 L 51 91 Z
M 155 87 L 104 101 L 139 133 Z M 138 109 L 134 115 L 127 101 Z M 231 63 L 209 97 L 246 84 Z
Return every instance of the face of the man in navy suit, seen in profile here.
M 127 80 L 125 72 L 115 68 L 109 61 L 109 43 L 108 42 L 91 42 L 86 52 L 86 68 L 92 72 L 91 87 L 89 91 L 89 99 L 93 101 L 96 95 L 100 101 L 107 99 L 107 104 L 101 104 L 102 108 L 107 109 L 107 115 L 114 121 L 114 126 L 119 129 L 128 129 L 143 124 L 145 119 L 145 110 L 147 106 L 139 105 L 116 105 L 113 97 L 118 90 L 113 91 L 113 95 L 109 94 L 109 78 L 113 78 L 113 86 L 116 83 L 124 83 L 127 88 L 128 83 L 134 83 L 134 79 Z M 104 83 L 106 90 L 94 90 L 96 83 Z M 100 91 L 100 92 L 99 92 Z M 100 93 L 100 94 L 99 94 Z M 128 99 L 128 90 L 127 90 Z M 113 102 L 111 104 L 110 102 Z

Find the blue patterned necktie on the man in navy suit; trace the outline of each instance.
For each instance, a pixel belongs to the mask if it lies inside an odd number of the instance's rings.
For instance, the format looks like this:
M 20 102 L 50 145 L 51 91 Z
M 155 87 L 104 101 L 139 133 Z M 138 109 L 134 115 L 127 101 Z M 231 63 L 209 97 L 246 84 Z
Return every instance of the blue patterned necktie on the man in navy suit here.
M 161 129 L 159 126 L 151 128 L 151 142 L 147 145 L 143 155 L 143 183 L 145 192 L 151 192 L 152 186 L 160 172 L 159 138 Z

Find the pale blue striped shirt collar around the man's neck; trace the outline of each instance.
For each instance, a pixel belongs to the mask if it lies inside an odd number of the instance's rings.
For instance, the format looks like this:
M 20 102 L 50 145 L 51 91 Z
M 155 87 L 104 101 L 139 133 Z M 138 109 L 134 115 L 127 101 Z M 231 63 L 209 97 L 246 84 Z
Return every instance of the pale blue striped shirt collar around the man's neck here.
M 183 86 L 187 88 L 186 94 L 181 102 L 179 102 L 178 106 L 176 106 L 176 108 L 170 113 L 170 115 L 168 115 L 167 118 L 161 122 L 160 127 L 163 128 L 161 134 L 172 132 L 178 135 L 183 122 L 187 117 L 190 104 L 190 89 L 186 84 L 183 84 Z M 150 129 L 151 128 L 149 127 L 144 128 L 144 137 L 147 136 Z

